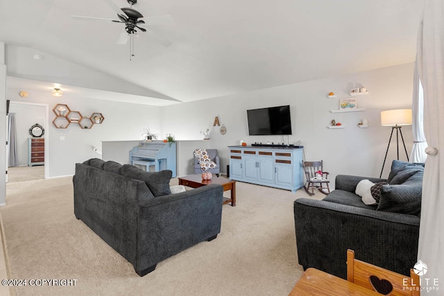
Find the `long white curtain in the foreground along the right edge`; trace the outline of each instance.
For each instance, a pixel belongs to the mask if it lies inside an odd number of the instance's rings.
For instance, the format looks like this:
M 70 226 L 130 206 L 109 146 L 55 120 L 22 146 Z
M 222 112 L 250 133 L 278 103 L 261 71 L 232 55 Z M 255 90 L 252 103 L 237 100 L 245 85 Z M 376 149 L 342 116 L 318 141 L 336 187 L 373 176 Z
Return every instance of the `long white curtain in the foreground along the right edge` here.
M 444 291 L 444 3 L 425 0 L 418 32 L 418 76 L 424 89 L 424 128 L 429 146 L 422 182 L 422 207 L 418 259 L 428 265 L 422 278 L 438 279 Z M 422 286 L 426 286 L 425 280 Z M 433 288 L 429 281 L 428 287 Z

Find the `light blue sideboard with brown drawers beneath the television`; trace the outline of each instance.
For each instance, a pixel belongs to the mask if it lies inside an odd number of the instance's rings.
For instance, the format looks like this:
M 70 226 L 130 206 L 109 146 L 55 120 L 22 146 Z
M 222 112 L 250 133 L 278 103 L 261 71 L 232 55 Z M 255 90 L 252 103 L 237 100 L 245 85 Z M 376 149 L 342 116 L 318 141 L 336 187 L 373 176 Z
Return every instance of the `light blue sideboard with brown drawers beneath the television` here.
M 230 180 L 296 192 L 303 186 L 302 148 L 228 146 Z

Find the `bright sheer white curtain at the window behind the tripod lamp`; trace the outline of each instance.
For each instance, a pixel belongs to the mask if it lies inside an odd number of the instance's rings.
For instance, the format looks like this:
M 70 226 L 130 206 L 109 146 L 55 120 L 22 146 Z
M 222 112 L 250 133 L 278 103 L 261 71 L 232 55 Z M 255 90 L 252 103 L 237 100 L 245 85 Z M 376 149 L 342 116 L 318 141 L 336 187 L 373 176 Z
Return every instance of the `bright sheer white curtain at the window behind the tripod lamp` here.
M 418 58 L 416 58 L 418 60 Z M 412 132 L 413 147 L 411 148 L 410 162 L 425 162 L 427 155 L 427 141 L 424 134 L 424 90 L 418 77 L 418 63 L 415 65 L 413 75 L 413 101 L 412 101 Z

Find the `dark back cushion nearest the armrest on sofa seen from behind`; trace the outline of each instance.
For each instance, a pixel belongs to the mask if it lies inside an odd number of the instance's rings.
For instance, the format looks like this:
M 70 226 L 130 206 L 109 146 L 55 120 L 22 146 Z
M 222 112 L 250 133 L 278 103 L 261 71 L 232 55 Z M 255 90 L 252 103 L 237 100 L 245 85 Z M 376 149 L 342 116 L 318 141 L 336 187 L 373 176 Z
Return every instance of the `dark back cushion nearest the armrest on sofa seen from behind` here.
M 173 172 L 170 170 L 151 173 L 142 171 L 140 168 L 130 164 L 123 164 L 121 174 L 126 177 L 144 181 L 155 197 L 171 194 L 169 181 L 173 176 Z

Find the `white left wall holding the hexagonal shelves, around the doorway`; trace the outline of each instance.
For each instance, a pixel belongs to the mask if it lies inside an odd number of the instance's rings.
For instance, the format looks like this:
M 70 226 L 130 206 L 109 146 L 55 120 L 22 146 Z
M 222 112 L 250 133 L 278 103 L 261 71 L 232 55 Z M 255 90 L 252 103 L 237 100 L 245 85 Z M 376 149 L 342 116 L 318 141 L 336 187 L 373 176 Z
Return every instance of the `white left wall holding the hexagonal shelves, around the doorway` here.
M 61 98 L 51 96 L 48 92 L 28 91 L 28 98 L 19 96 L 21 89 L 8 89 L 7 98 L 11 101 L 44 103 L 49 105 L 49 157 L 48 177 L 59 177 L 74 174 L 74 164 L 85 159 L 99 157 L 92 146 L 101 148 L 101 141 L 138 140 L 142 139 L 141 130 L 151 128 L 161 131 L 159 107 L 135 105 L 114 101 L 103 101 L 92 98 L 79 98 L 64 94 Z M 91 116 L 93 112 L 101 112 L 105 118 L 102 124 L 93 125 L 90 130 L 83 130 L 77 123 L 71 123 L 66 129 L 56 128 L 52 121 L 56 117 L 53 107 L 67 104 L 70 110 L 78 111 L 83 116 Z M 31 114 L 28 114 L 31 116 Z M 61 140 L 60 137 L 65 137 Z

